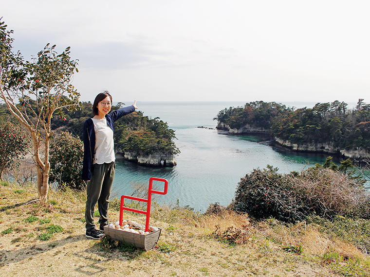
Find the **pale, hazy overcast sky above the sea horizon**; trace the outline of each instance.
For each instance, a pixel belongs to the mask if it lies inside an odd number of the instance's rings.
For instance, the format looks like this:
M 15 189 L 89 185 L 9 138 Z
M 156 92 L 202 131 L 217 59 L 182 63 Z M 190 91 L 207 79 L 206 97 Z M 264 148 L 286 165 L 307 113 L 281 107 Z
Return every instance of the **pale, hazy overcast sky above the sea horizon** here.
M 369 0 L 1 0 L 14 50 L 71 46 L 81 101 L 369 103 Z M 129 103 L 130 104 L 130 103 Z

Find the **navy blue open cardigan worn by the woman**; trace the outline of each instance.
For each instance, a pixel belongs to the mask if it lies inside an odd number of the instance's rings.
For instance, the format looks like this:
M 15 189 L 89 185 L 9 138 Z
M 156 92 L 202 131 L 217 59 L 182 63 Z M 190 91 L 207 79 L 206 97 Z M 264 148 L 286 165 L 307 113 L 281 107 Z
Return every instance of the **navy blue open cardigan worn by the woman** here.
M 133 105 L 112 111 L 111 113 L 105 116 L 108 126 L 111 127 L 112 131 L 114 131 L 113 122 L 120 119 L 124 115 L 132 113 L 134 111 L 135 107 Z M 91 118 L 85 121 L 83 127 L 83 136 L 84 136 L 84 160 L 82 166 L 82 180 L 90 181 L 92 158 L 94 157 L 95 150 L 95 129 L 94 123 L 92 122 Z

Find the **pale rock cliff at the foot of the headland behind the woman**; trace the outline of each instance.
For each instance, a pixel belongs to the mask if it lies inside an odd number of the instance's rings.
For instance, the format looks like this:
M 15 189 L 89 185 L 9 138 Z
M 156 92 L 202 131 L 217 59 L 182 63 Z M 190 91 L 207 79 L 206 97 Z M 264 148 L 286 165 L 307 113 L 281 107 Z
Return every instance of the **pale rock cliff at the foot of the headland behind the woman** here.
M 168 153 L 154 153 L 151 155 L 140 155 L 132 152 L 122 153 L 126 160 L 137 162 L 145 166 L 168 166 L 176 165 L 175 157 Z

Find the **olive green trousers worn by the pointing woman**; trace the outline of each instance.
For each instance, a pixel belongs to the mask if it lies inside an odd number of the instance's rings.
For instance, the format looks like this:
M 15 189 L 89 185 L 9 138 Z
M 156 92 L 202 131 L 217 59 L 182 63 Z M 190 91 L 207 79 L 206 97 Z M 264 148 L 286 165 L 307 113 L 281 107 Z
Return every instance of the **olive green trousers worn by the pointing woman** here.
M 87 182 L 86 187 L 86 230 L 91 231 L 95 228 L 94 207 L 98 203 L 100 213 L 99 224 L 108 223 L 109 196 L 113 184 L 115 172 L 115 162 L 104 164 L 93 164 L 91 180 Z

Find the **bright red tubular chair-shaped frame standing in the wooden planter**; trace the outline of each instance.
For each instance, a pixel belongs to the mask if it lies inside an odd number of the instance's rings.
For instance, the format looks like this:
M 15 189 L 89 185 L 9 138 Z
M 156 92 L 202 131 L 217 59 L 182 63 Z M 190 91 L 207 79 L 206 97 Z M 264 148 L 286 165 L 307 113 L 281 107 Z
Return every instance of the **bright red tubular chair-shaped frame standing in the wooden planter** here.
M 153 189 L 152 189 L 152 188 L 153 188 L 153 181 L 161 181 L 161 182 L 165 182 L 165 190 L 164 190 L 164 191 L 153 190 Z M 151 194 L 152 194 L 152 193 L 157 193 L 157 194 L 165 195 L 165 194 L 167 193 L 167 188 L 168 188 L 168 181 L 167 181 L 166 179 L 151 177 L 151 178 L 149 179 L 148 199 L 144 199 L 144 198 L 140 198 L 140 197 L 134 197 L 134 196 L 129 196 L 129 195 L 122 195 L 122 196 L 121 196 L 120 209 L 119 209 L 119 225 L 121 225 L 121 226 L 122 226 L 122 221 L 123 221 L 123 211 L 124 211 L 124 210 L 132 211 L 132 212 L 138 212 L 138 213 L 142 213 L 142 214 L 147 215 L 147 220 L 146 220 L 146 222 L 145 222 L 145 231 L 146 231 L 146 232 L 148 232 L 148 228 L 149 228 L 149 218 L 150 218 Z M 128 208 L 128 207 L 124 207 L 125 198 L 126 198 L 126 199 L 130 199 L 130 200 L 136 200 L 136 201 L 147 202 L 147 203 L 148 203 L 148 205 L 147 205 L 147 210 L 146 210 L 146 211 L 143 211 L 143 210 L 136 209 L 136 208 Z

